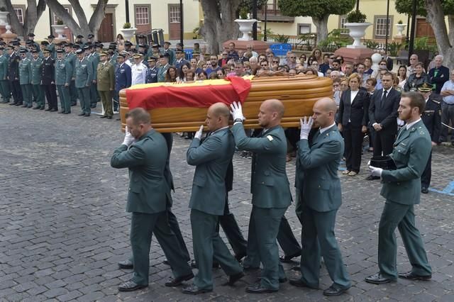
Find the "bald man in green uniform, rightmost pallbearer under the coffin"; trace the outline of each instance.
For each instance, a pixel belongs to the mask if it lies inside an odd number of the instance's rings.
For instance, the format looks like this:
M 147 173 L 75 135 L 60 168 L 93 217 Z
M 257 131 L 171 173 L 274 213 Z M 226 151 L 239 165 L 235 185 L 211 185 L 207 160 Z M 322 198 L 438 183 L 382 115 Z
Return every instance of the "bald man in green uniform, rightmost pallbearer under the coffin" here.
M 341 181 L 338 167 L 343 155 L 343 138 L 335 123 L 337 106 L 332 99 L 324 98 L 314 104 L 314 115 L 309 122 L 301 120 L 298 142 L 299 169 L 304 173 L 300 194 L 302 234 L 301 277 L 290 284 L 299 287 L 319 288 L 321 256 L 333 284 L 323 294 L 339 296 L 350 289 L 350 277 L 343 265 L 334 225 L 341 207 Z M 309 132 L 319 128 L 309 145 Z

